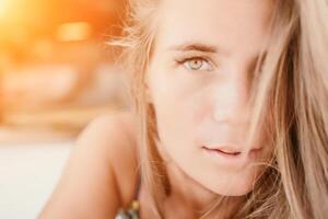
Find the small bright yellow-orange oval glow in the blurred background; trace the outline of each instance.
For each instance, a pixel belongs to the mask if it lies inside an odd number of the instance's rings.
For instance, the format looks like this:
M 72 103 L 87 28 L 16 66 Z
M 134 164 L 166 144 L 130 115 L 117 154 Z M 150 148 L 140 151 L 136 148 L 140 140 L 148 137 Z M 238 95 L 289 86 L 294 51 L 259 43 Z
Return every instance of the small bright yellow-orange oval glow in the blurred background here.
M 57 38 L 61 42 L 84 41 L 91 36 L 91 25 L 86 22 L 65 23 L 57 30 Z

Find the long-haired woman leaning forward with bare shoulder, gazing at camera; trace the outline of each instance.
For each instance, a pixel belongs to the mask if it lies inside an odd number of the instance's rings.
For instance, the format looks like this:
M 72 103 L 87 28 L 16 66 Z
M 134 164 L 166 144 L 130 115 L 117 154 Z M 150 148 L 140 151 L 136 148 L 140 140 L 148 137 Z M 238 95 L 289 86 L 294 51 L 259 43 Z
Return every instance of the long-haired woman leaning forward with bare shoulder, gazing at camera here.
M 131 1 L 113 44 L 136 107 L 86 128 L 40 218 L 324 219 L 327 12 Z

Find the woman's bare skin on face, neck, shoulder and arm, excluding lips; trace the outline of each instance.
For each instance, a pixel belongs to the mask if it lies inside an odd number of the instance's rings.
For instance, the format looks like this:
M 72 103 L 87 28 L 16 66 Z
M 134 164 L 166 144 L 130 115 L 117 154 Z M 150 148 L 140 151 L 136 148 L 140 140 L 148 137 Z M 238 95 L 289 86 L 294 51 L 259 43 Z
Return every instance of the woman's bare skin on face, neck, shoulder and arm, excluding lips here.
M 261 171 L 254 165 L 271 150 L 261 143 L 261 132 L 250 147 L 245 139 L 249 78 L 268 37 L 272 2 L 163 0 L 156 10 L 159 28 L 145 73 L 157 148 L 172 183 L 165 218 L 197 218 L 218 195 L 235 196 L 233 205 L 250 192 Z M 114 218 L 136 193 L 136 145 L 133 115 L 94 122 L 39 218 Z M 226 150 L 234 145 L 238 161 L 216 159 L 202 148 L 219 145 L 229 145 Z M 140 203 L 141 218 L 154 218 L 144 186 Z

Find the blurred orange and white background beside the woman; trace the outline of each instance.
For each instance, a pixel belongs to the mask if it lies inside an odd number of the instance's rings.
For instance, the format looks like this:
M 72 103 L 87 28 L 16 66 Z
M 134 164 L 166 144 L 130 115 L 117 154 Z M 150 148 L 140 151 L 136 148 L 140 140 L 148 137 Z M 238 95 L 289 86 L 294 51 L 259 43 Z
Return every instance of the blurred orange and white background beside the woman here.
M 128 107 L 122 0 L 0 0 L 0 218 L 36 218 L 74 139 Z

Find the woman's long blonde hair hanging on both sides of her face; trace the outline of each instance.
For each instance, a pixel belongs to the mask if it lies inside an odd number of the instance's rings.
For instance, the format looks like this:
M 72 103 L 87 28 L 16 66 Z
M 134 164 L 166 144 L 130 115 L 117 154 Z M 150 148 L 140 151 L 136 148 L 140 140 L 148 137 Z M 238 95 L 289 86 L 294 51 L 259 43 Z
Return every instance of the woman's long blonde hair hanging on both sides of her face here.
M 121 59 L 130 73 L 132 105 L 139 116 L 142 180 L 163 217 L 169 193 L 153 106 L 144 74 L 155 41 L 159 0 L 130 0 L 121 38 Z M 328 216 L 328 4 L 325 0 L 277 1 L 271 37 L 254 73 L 250 139 L 270 119 L 274 153 L 233 218 L 324 219 Z M 203 215 L 215 215 L 229 197 Z

